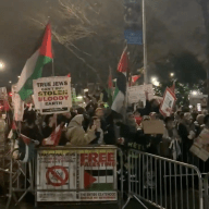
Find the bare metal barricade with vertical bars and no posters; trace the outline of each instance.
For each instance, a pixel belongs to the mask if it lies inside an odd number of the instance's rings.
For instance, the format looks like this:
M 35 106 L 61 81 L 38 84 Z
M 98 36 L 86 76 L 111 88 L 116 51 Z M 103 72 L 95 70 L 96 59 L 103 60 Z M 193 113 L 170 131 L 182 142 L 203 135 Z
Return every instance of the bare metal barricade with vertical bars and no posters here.
M 204 209 L 199 170 L 183 162 L 150 153 L 128 151 L 128 199 L 145 200 L 157 208 Z

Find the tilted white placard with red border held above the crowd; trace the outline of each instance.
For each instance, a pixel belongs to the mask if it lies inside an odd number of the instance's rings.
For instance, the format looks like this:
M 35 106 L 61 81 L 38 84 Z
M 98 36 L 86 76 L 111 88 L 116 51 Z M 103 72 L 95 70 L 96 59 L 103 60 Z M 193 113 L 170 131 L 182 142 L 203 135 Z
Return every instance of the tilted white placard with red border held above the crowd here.
M 176 97 L 170 88 L 165 89 L 163 101 L 160 106 L 160 113 L 163 116 L 170 116 L 175 104 Z

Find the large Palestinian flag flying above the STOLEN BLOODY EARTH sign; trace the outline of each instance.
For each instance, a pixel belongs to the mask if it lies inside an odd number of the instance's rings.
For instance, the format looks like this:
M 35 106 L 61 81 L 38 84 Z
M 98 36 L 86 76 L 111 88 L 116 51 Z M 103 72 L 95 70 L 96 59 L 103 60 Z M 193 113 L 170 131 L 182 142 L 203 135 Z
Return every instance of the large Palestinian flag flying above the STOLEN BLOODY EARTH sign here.
M 41 77 L 44 65 L 51 62 L 52 58 L 51 28 L 48 24 L 41 38 L 41 45 L 26 61 L 16 86 L 16 91 L 23 101 L 33 95 L 33 79 Z

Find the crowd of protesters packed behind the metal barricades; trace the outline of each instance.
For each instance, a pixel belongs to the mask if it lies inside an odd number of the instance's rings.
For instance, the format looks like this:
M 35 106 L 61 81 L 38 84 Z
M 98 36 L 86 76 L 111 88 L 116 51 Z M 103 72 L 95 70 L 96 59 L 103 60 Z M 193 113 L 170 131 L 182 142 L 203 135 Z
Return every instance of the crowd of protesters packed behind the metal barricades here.
M 86 108 L 72 108 L 69 113 L 56 116 L 39 115 L 27 107 L 21 124 L 21 134 L 38 140 L 41 145 L 60 125 L 60 146 L 118 145 L 123 149 L 136 148 L 188 163 L 193 156 L 189 149 L 194 142 L 201 140 L 207 150 L 209 137 L 204 142 L 199 137 L 207 134 L 209 136 L 207 111 L 200 113 L 182 108 L 171 116 L 163 118 L 159 113 L 159 107 L 158 100 L 147 100 L 145 107 L 130 107 L 124 114 L 119 114 L 90 97 L 86 98 Z M 145 134 L 143 122 L 146 120 L 163 121 L 164 133 Z

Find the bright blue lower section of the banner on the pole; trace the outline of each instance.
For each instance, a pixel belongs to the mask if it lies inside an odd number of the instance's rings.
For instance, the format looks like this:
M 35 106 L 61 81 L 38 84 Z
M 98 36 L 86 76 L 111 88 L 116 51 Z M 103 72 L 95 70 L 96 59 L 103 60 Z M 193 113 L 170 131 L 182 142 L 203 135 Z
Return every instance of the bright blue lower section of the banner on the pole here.
M 127 41 L 127 45 L 143 45 L 143 32 L 142 30 L 125 29 L 124 37 Z

